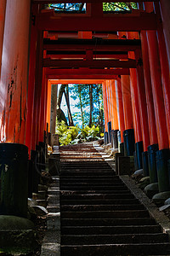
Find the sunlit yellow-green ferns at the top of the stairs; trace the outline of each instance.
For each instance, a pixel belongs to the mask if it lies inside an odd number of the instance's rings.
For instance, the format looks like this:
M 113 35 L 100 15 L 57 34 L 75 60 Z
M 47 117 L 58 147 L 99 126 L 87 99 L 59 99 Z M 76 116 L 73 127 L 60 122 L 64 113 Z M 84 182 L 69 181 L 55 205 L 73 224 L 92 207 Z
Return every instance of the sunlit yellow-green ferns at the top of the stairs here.
M 64 121 L 57 124 L 56 133 L 59 134 L 59 143 L 61 146 L 90 142 L 99 139 L 99 126 L 93 125 L 91 128 L 87 125 L 80 129 L 76 126 L 67 126 Z

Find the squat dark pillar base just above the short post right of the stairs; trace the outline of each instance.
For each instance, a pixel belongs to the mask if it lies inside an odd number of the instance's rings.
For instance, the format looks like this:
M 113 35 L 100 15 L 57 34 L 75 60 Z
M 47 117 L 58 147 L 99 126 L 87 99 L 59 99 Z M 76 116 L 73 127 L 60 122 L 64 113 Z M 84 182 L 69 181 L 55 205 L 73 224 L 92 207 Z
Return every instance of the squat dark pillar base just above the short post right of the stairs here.
M 134 130 L 128 129 L 123 131 L 124 138 L 124 155 L 130 156 L 134 153 Z

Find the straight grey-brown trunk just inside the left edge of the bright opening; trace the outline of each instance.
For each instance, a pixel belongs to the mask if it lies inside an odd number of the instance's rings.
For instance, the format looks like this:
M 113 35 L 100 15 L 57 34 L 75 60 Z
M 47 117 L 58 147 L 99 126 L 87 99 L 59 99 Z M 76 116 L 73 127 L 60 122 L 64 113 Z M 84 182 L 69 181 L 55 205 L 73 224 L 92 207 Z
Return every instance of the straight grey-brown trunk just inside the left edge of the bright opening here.
M 51 119 L 50 119 L 50 132 L 55 133 L 56 124 L 56 109 L 57 109 L 57 90 L 58 84 L 52 84 L 51 87 Z

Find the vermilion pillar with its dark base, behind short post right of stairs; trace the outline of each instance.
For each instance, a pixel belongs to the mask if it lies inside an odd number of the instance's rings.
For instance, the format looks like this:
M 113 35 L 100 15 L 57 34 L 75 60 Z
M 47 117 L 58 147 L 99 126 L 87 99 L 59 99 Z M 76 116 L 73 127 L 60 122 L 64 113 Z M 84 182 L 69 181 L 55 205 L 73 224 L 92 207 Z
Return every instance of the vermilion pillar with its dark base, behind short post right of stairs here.
M 122 76 L 122 103 L 125 121 L 124 137 L 124 154 L 129 156 L 134 152 L 134 131 L 133 131 L 133 112 L 130 93 L 129 76 Z

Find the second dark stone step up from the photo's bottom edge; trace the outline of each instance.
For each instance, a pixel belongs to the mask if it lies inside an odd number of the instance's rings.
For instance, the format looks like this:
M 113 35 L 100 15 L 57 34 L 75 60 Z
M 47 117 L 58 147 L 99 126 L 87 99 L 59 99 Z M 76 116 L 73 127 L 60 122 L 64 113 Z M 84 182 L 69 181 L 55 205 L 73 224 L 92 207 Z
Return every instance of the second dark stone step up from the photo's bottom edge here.
M 94 245 L 94 244 L 122 244 L 123 243 L 155 243 L 167 242 L 168 236 L 163 233 L 149 234 L 116 234 L 116 235 L 63 235 L 63 245 Z M 154 245 L 153 245 L 154 246 Z

